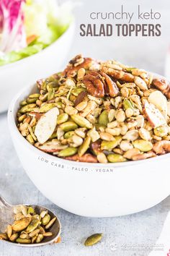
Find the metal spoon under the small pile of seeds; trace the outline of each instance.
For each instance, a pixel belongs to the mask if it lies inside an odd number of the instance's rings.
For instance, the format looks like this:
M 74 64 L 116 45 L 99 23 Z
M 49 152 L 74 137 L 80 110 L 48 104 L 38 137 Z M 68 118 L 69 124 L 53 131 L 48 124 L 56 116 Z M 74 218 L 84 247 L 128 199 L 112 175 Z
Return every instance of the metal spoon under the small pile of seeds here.
M 35 212 L 37 214 L 40 214 L 42 210 L 48 210 L 47 208 L 44 208 L 40 205 L 28 205 L 28 204 L 24 204 L 24 205 L 32 206 L 35 209 Z M 4 233 L 6 226 L 8 226 L 9 223 L 14 222 L 14 207 L 16 206 L 17 205 L 9 205 L 9 203 L 6 202 L 6 200 L 4 200 L 3 197 L 0 196 L 0 233 Z M 48 210 L 48 214 L 50 214 L 51 218 L 56 217 L 55 223 L 53 223 L 53 226 L 49 229 L 49 231 L 53 233 L 53 236 L 46 236 L 44 237 L 42 242 L 37 244 L 18 244 L 15 242 L 10 242 L 8 240 L 3 240 L 3 241 L 9 242 L 10 244 L 15 244 L 17 246 L 22 246 L 22 247 L 37 247 L 37 246 L 42 246 L 45 244 L 51 244 L 55 242 L 61 234 L 61 222 L 58 220 L 57 216 L 55 216 L 55 214 L 52 213 L 50 210 Z

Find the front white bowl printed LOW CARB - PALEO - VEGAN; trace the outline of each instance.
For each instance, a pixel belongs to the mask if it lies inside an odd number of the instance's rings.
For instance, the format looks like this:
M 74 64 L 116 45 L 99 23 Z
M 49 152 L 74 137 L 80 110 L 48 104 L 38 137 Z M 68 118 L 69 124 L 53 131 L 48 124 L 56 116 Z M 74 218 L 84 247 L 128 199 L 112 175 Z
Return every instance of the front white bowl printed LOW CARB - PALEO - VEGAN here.
M 170 194 L 170 153 L 125 163 L 78 163 L 43 153 L 16 126 L 19 102 L 35 92 L 22 90 L 9 106 L 14 147 L 28 176 L 45 197 L 80 216 L 108 217 L 137 213 Z

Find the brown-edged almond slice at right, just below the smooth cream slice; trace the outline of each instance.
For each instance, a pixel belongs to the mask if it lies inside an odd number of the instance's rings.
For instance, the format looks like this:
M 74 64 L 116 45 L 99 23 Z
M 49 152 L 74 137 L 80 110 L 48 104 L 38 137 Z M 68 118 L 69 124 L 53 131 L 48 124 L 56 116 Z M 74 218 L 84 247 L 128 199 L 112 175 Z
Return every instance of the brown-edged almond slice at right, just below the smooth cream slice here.
M 166 124 L 166 119 L 164 118 L 163 114 L 161 114 L 161 111 L 156 108 L 156 106 L 146 101 L 143 108 L 148 118 L 148 121 L 151 123 L 151 126 L 153 128 L 160 127 L 161 125 Z

